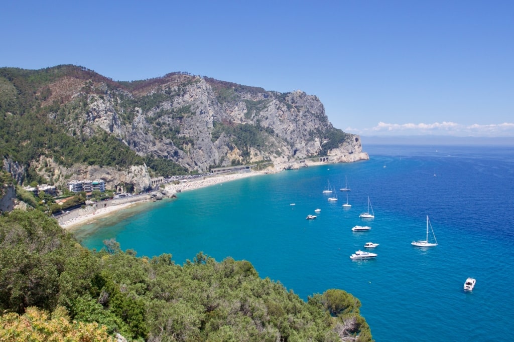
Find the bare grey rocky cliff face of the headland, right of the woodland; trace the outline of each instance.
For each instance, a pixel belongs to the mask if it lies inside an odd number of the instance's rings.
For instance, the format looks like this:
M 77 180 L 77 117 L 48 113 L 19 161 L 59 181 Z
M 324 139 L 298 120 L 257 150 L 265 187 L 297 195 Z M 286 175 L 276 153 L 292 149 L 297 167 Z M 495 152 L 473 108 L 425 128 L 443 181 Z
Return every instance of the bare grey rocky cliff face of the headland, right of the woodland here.
M 183 73 L 131 83 L 73 66 L 50 68 L 49 73 L 58 71 L 62 76 L 47 76 L 50 81 L 35 90 L 34 107 L 45 120 L 69 136 L 107 132 L 139 156 L 168 159 L 199 172 L 260 161 L 280 165 L 318 155 L 329 156 L 329 162 L 368 159 L 359 137 L 334 128 L 319 99 L 299 90 L 279 93 Z M 93 168 L 74 168 L 79 178 L 94 178 L 88 176 Z M 71 171 L 61 167 L 59 172 Z M 105 178 L 101 172 L 95 175 Z

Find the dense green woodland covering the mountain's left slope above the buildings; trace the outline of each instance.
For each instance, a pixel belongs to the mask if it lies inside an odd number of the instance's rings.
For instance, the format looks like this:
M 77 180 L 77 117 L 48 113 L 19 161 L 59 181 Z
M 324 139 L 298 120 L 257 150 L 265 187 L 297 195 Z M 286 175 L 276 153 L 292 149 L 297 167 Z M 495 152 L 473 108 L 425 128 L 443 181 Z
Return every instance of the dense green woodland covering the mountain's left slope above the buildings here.
M 128 146 L 104 131 L 88 137 L 81 131 L 71 135 L 63 125 L 66 113 L 84 107 L 85 99 L 77 99 L 65 105 L 54 102 L 41 107 L 50 95 L 45 88 L 64 75 L 84 80 L 113 83 L 91 70 L 74 66 L 58 66 L 41 70 L 0 68 L 0 153 L 10 156 L 30 170 L 30 164 L 40 156 L 53 158 L 59 164 L 70 166 L 86 163 L 100 166 L 129 166 L 142 164 Z M 43 89 L 39 94 L 38 89 Z M 75 108 L 77 107 L 77 108 Z M 55 116 L 49 116 L 55 112 Z M 35 179 L 36 173 L 28 172 L 27 181 Z

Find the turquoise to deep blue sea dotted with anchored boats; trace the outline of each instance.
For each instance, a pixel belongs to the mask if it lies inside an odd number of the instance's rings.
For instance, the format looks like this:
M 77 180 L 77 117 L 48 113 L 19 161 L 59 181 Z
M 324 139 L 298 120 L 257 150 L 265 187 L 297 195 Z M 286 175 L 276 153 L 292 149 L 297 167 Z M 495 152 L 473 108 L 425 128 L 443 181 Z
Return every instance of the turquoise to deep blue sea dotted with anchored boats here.
M 377 341 L 497 341 L 514 330 L 514 148 L 369 145 L 369 161 L 255 176 L 178 194 L 76 231 L 139 256 L 249 260 L 303 299 L 338 288 L 362 303 Z M 345 176 L 350 209 L 322 194 Z M 363 220 L 371 200 L 375 219 Z M 290 205 L 295 203 L 295 205 Z M 306 220 L 315 214 L 316 220 Z M 437 242 L 416 248 L 429 216 Z M 354 225 L 369 225 L 354 233 Z M 373 260 L 350 255 L 380 243 Z M 476 278 L 464 292 L 467 277 Z M 509 337 L 510 336 L 510 337 Z

